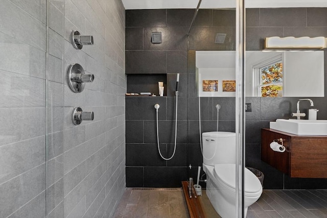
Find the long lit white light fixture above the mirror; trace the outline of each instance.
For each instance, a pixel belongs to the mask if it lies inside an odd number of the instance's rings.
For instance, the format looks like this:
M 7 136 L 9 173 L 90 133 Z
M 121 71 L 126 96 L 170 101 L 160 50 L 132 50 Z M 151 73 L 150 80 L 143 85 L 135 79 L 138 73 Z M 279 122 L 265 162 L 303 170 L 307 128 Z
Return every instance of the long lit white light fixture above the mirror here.
M 319 37 L 267 37 L 265 39 L 265 49 L 325 49 L 327 40 L 323 36 Z

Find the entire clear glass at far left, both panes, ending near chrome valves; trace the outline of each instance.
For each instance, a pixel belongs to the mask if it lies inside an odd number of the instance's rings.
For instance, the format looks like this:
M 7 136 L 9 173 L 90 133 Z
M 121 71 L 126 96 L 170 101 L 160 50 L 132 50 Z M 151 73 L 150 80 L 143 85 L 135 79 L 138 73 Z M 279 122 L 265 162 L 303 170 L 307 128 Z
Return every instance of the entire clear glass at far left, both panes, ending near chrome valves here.
M 63 4 L 0 2 L 0 217 L 63 217 Z

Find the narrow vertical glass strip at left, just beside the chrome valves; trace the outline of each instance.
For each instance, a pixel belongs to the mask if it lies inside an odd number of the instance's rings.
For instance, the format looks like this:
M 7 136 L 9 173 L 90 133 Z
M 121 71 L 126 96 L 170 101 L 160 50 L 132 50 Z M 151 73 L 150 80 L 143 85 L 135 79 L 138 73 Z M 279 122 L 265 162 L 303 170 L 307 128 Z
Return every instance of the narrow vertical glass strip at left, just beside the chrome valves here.
M 64 1 L 46 0 L 46 214 L 64 217 Z

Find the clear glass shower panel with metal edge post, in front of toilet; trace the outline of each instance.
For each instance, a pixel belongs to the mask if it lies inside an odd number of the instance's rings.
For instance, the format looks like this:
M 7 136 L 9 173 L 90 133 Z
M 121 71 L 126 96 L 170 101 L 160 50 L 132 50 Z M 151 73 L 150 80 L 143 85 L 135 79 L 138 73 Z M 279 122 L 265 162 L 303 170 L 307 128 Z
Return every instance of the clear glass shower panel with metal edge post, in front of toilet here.
M 191 91 L 189 96 L 190 100 L 193 95 L 198 96 L 198 111 L 201 112 L 199 114 L 199 123 L 201 123 L 198 127 L 200 140 L 203 132 L 212 137 L 200 141 L 200 144 L 203 144 L 203 167 L 206 173 L 204 198 L 208 197 L 213 208 L 221 216 L 242 217 L 245 216 L 244 209 L 247 209 L 243 203 L 244 5 L 241 0 L 231 1 L 228 6 L 220 5 L 220 7 L 218 7 L 219 1 L 216 3 L 214 7 L 202 3 L 200 6 L 202 10 L 199 11 L 190 32 L 189 77 L 196 81 L 197 88 L 196 93 Z M 203 10 L 205 7 L 209 9 Z M 205 20 L 211 20 L 211 23 L 207 24 Z M 226 88 L 228 83 L 232 85 Z M 221 108 L 219 115 L 218 108 Z M 212 132 L 216 130 L 217 135 Z M 227 134 L 235 136 L 236 143 L 226 142 L 223 136 Z M 226 148 L 221 149 L 221 144 Z M 227 148 L 228 146 L 232 149 Z M 217 152 L 220 154 L 225 154 L 225 158 L 218 157 L 216 163 L 211 160 L 218 156 L 215 155 L 215 148 L 218 148 Z M 208 151 L 211 152 L 210 155 L 206 153 Z M 218 165 L 214 166 L 217 163 Z M 222 185 L 223 183 L 233 187 L 233 191 L 225 191 L 227 188 Z M 205 207 L 208 206 L 205 210 L 212 210 L 211 205 L 205 204 Z

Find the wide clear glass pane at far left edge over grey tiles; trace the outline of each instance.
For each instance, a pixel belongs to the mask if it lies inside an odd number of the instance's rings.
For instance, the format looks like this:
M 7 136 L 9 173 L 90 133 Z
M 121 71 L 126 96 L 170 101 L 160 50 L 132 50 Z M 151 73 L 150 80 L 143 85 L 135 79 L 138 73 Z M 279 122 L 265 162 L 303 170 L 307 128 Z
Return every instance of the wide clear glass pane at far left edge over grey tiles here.
M 45 217 L 46 1 L 0 1 L 0 217 Z

